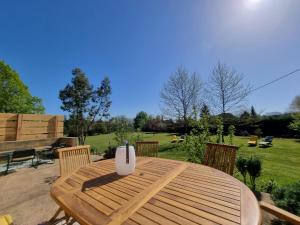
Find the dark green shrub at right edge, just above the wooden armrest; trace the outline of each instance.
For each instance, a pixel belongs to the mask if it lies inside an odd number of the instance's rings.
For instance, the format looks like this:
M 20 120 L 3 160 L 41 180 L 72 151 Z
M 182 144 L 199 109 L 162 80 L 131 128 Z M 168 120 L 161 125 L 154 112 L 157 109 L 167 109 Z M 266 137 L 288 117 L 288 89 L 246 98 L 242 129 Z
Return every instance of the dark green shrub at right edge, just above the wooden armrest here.
M 271 197 L 279 208 L 300 216 L 300 180 L 293 184 L 277 188 Z

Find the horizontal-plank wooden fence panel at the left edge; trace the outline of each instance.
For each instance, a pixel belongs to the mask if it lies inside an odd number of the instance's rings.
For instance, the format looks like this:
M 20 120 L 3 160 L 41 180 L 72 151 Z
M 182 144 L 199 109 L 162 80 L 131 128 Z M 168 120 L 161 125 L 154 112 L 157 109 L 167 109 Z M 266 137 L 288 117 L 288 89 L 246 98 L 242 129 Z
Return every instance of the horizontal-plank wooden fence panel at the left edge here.
M 61 115 L 0 113 L 0 141 L 62 137 Z

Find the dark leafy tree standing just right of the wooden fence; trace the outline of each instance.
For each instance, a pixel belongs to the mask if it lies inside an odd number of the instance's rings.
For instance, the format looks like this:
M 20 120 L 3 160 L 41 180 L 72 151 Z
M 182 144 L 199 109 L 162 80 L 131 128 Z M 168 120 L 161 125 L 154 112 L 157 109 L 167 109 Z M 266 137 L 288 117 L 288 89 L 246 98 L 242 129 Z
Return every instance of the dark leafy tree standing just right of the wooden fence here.
M 62 101 L 61 109 L 70 113 L 79 144 L 84 144 L 95 119 L 109 116 L 110 80 L 105 77 L 100 86 L 94 89 L 81 69 L 73 69 L 72 74 L 71 83 L 60 90 L 59 98 Z

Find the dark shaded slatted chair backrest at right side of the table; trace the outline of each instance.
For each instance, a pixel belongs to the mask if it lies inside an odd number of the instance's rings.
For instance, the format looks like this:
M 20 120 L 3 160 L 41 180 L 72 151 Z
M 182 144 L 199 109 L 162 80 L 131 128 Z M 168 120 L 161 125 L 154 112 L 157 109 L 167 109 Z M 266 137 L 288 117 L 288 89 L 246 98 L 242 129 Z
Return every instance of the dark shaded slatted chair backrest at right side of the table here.
M 237 146 L 207 143 L 204 165 L 233 175 Z

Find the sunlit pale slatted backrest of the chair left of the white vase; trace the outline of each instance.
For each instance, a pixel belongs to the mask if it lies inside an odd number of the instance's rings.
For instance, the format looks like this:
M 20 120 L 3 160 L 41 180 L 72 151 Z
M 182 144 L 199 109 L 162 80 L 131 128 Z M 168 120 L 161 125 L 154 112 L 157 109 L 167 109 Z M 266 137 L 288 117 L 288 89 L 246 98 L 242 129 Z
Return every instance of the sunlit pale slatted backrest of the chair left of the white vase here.
M 91 163 L 89 145 L 61 148 L 58 153 L 61 176 L 66 176 L 79 167 Z

